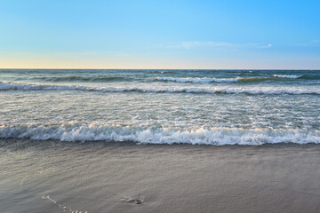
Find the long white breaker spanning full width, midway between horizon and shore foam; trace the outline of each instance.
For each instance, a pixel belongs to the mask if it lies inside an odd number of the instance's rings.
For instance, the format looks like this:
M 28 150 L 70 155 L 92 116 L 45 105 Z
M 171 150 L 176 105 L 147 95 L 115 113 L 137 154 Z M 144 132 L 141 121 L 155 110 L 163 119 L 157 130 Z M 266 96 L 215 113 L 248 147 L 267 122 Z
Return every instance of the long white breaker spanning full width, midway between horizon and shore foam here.
M 90 87 L 77 85 L 51 85 L 31 83 L 0 82 L 0 91 L 101 91 L 101 92 L 168 92 L 168 93 L 209 93 L 209 94 L 248 94 L 248 95 L 320 95 L 319 90 L 284 88 L 284 87 L 161 87 L 161 86 L 127 86 L 127 87 Z

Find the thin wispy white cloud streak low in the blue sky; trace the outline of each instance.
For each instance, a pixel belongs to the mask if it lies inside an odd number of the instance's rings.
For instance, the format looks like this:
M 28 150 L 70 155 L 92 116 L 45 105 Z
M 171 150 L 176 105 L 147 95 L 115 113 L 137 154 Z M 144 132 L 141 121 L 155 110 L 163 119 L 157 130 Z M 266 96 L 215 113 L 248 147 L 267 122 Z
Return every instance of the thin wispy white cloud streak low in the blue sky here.
M 168 49 L 184 49 L 191 50 L 196 48 L 271 48 L 272 43 L 226 43 L 226 42 L 180 42 L 180 43 L 165 43 L 159 45 L 160 48 Z

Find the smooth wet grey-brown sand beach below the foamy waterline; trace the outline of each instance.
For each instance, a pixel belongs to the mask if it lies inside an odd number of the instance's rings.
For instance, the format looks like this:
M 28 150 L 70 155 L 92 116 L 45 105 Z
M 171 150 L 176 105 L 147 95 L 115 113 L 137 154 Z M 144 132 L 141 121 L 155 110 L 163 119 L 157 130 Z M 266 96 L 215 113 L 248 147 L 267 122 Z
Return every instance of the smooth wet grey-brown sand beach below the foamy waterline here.
M 319 145 L 0 139 L 0 211 L 319 212 L 319 162 Z

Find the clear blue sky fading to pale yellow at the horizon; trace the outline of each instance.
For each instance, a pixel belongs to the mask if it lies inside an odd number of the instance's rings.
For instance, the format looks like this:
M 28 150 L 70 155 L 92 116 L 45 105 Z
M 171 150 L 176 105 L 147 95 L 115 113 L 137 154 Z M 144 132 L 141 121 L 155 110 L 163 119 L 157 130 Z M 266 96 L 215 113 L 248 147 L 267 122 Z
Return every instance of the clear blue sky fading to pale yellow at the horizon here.
M 320 69 L 320 1 L 0 0 L 0 68 Z

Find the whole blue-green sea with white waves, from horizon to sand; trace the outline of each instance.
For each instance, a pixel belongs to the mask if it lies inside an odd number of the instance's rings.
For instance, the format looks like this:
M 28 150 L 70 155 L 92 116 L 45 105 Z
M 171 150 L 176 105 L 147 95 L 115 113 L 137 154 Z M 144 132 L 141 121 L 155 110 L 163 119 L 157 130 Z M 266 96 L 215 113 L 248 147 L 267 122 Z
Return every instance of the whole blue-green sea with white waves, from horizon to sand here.
M 319 70 L 0 69 L 0 138 L 320 143 Z

